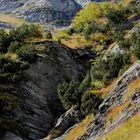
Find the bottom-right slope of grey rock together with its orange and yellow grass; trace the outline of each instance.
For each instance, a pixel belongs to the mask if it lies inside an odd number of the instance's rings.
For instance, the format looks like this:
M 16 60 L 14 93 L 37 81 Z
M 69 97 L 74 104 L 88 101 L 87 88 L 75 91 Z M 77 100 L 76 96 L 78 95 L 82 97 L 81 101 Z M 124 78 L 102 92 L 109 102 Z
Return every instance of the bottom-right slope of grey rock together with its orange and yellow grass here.
M 123 128 L 121 125 L 127 121 L 129 122 L 132 117 L 136 116 L 139 118 L 139 97 L 140 62 L 137 62 L 117 81 L 112 91 L 110 91 L 103 103 L 99 106 L 99 113 L 97 113 L 95 121 L 88 126 L 86 134 L 79 139 L 92 140 L 105 138 L 114 140 L 118 138 L 123 140 L 137 140 L 140 135 L 138 131 L 140 129 L 139 119 L 137 122 L 134 122 L 136 124 L 132 123 L 132 126 L 130 125 L 128 126 L 129 128 L 126 127 L 124 128 L 125 130 L 121 130 L 120 132 L 115 128 L 118 126 Z M 137 127 L 133 128 L 133 125 L 137 125 Z M 114 132 L 112 132 L 112 130 L 114 130 Z M 117 131 L 119 133 L 117 133 Z M 111 134 L 109 132 L 111 132 Z M 127 134 L 128 132 L 131 133 L 131 135 Z M 116 133 L 116 135 L 113 135 L 113 133 Z

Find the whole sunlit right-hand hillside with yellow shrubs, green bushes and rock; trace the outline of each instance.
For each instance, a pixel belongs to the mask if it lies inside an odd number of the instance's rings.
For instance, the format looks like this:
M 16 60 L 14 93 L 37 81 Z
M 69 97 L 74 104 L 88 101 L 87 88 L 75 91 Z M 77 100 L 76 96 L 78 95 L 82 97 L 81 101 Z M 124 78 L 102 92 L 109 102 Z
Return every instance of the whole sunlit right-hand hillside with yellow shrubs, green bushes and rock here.
M 70 29 L 55 35 L 70 48 L 95 51 L 96 57 L 78 88 L 74 83 L 58 88 L 69 110 L 45 140 L 139 139 L 139 7 L 137 0 L 91 3 L 74 18 Z M 74 124 L 68 127 L 67 120 Z

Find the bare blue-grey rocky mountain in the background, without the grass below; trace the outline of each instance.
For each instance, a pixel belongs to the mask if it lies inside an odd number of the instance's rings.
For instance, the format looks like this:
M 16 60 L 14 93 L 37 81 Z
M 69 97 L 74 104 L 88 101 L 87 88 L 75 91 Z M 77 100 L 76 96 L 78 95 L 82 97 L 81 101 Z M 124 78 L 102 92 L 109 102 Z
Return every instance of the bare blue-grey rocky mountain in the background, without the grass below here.
M 74 0 L 0 0 L 0 13 L 13 13 L 30 22 L 70 21 L 80 9 Z

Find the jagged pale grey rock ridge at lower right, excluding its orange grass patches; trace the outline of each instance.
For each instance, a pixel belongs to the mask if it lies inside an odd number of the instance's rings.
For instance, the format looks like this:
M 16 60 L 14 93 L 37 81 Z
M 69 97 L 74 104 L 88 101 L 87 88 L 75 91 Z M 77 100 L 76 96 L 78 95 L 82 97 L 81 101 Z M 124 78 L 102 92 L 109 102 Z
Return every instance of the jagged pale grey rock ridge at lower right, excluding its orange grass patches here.
M 134 92 L 124 100 L 128 86 L 136 79 L 140 79 L 140 62 L 131 66 L 118 80 L 113 90 L 100 105 L 99 113 L 96 115 L 95 121 L 89 125 L 87 132 L 81 136 L 79 140 L 96 140 L 99 136 L 112 131 L 140 111 L 140 87 L 136 88 Z M 118 117 L 113 118 L 110 124 L 106 126 L 106 116 L 109 111 L 126 102 L 128 102 L 128 104 L 126 104 L 122 112 L 118 114 Z

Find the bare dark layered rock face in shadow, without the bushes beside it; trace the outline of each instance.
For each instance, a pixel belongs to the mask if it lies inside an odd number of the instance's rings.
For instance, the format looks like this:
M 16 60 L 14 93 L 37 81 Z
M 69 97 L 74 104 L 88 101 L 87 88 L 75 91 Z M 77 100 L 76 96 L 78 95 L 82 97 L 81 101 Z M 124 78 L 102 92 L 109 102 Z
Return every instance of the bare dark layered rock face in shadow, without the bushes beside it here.
M 71 80 L 80 81 L 86 74 L 87 65 L 79 62 L 78 55 L 94 57 L 85 50 L 77 54 L 76 50 L 64 48 L 57 42 L 43 44 L 47 51 L 25 71 L 28 80 L 14 91 L 22 99 L 20 106 L 13 111 L 14 119 L 28 130 L 26 138 L 32 140 L 45 137 L 64 111 L 56 93 L 57 85 Z

